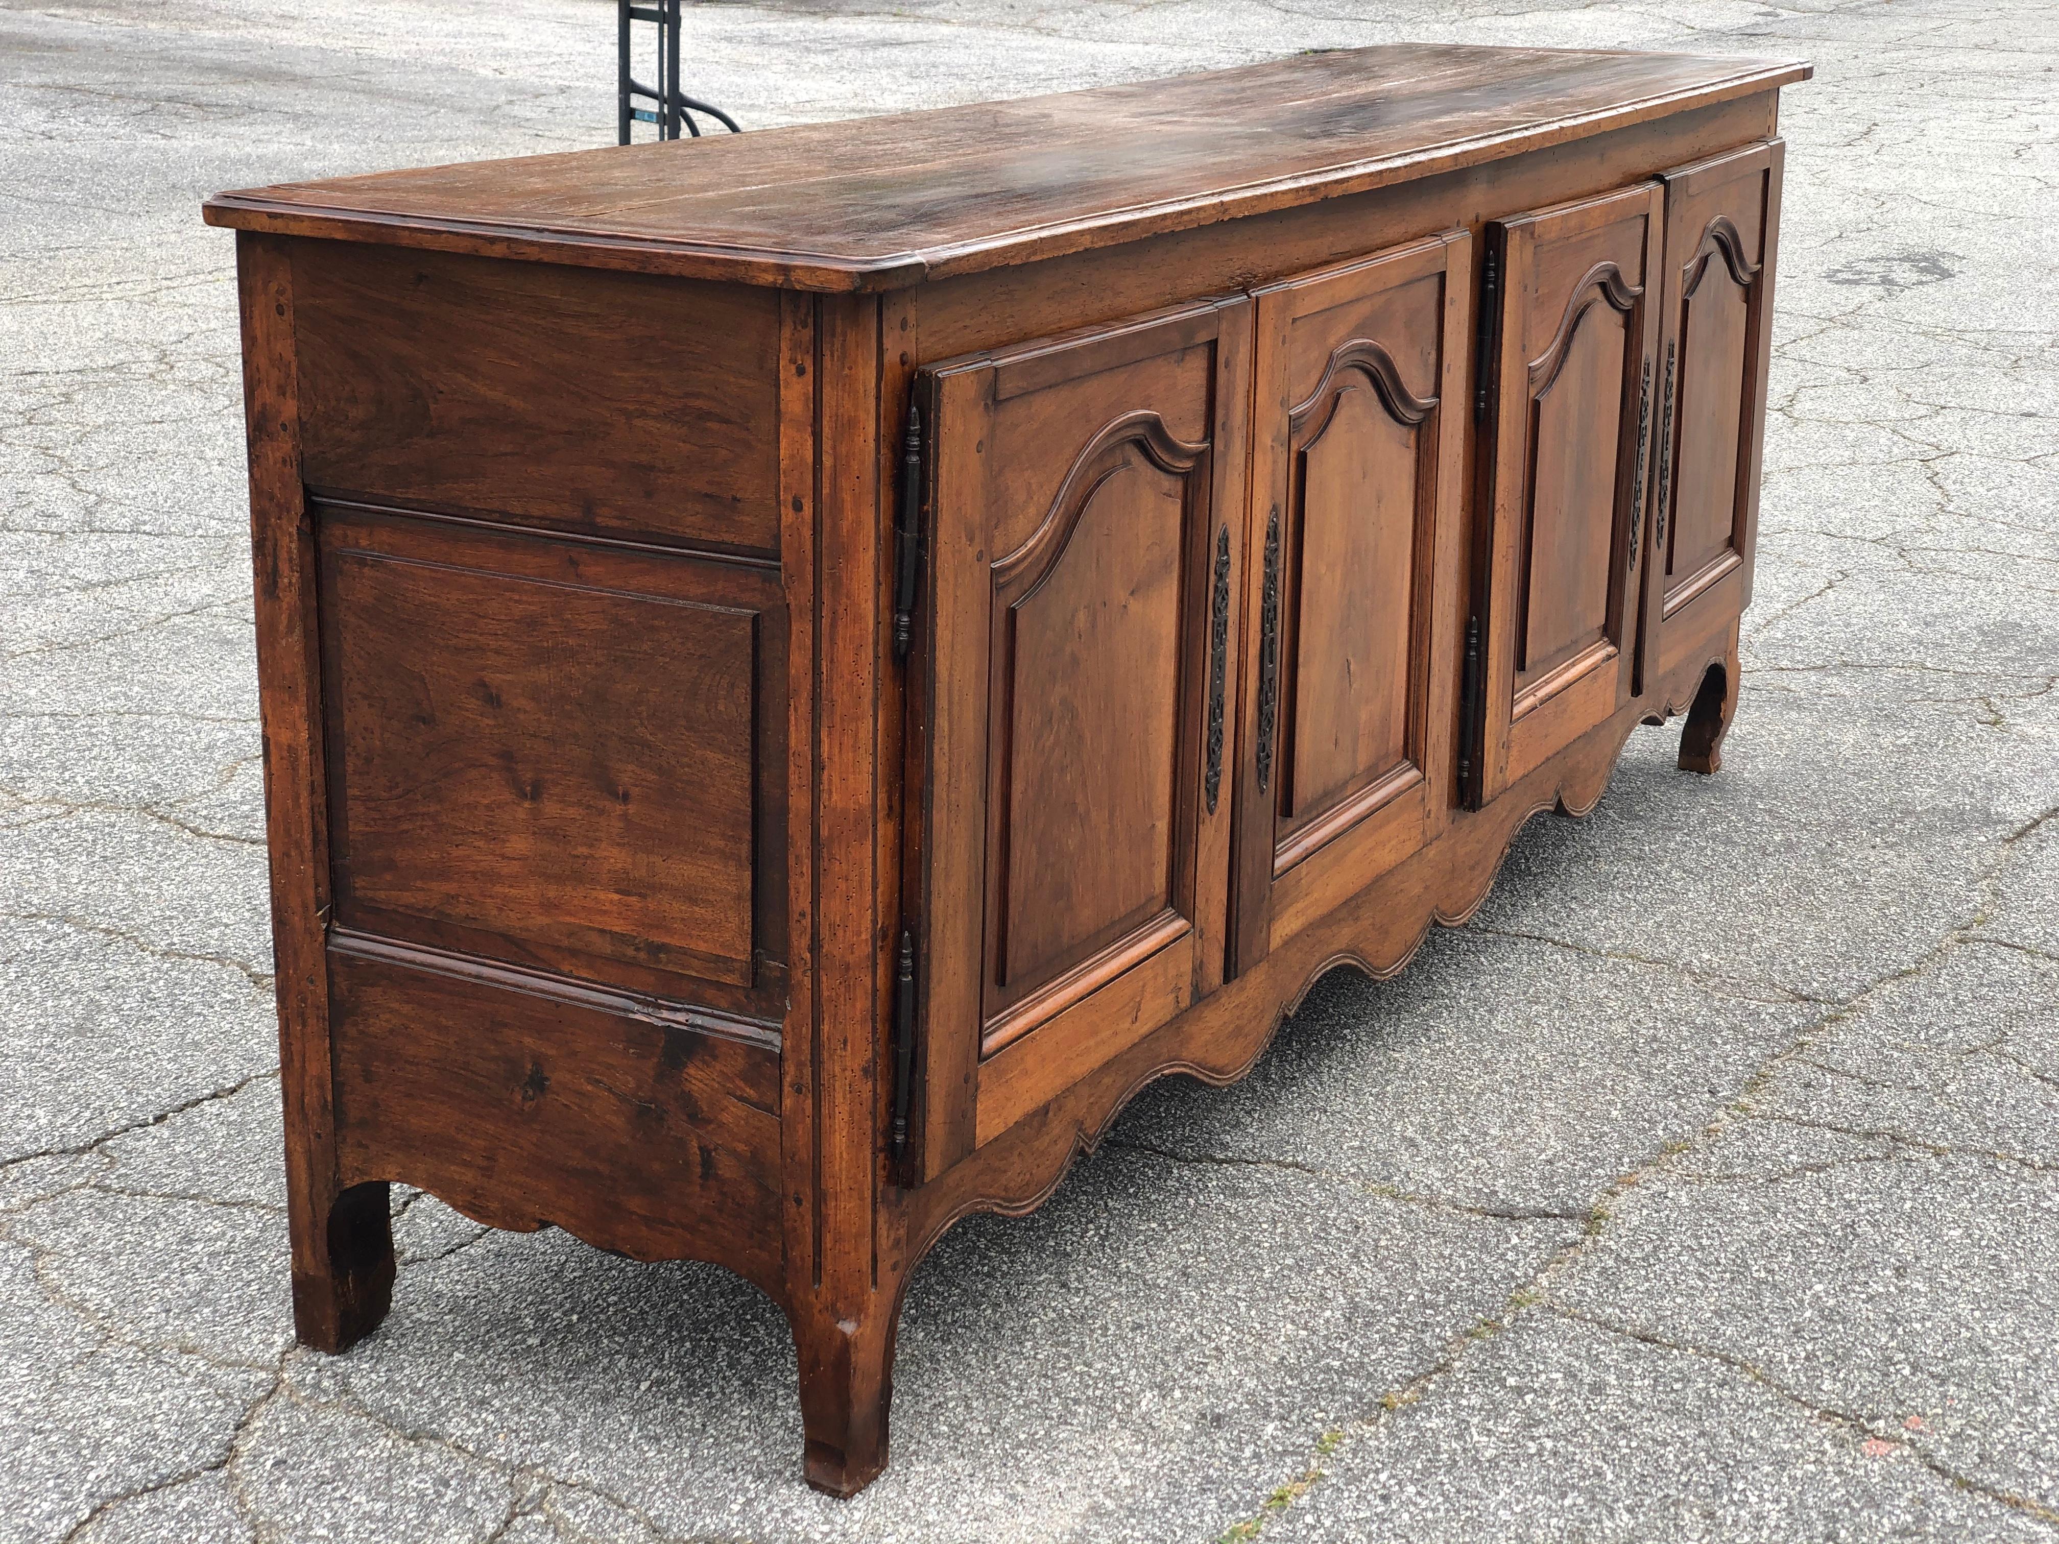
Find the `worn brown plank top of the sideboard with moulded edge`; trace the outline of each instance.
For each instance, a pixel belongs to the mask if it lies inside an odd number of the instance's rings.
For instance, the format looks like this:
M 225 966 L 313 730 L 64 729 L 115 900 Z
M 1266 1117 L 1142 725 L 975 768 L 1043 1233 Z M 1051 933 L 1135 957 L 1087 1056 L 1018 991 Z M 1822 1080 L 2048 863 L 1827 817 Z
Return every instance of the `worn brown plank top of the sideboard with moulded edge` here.
M 1402 43 L 1052 97 L 216 194 L 210 224 L 881 290 L 1357 194 L 1808 64 Z

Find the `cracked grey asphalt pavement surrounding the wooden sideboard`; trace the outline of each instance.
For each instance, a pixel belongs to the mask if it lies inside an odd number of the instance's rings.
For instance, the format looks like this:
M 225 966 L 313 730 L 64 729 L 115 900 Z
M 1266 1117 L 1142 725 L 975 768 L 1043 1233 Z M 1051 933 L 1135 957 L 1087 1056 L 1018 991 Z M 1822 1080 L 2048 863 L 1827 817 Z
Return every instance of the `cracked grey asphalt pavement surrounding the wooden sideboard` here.
M 791 0 L 749 126 L 1398 39 L 1808 56 L 1758 599 L 1468 928 L 918 1272 L 799 1476 L 754 1289 L 397 1198 L 292 1346 L 218 187 L 605 142 L 603 0 L 0 0 L 0 1544 L 2059 1540 L 2049 0 Z M 1233 134 L 1235 126 L 1225 126 Z

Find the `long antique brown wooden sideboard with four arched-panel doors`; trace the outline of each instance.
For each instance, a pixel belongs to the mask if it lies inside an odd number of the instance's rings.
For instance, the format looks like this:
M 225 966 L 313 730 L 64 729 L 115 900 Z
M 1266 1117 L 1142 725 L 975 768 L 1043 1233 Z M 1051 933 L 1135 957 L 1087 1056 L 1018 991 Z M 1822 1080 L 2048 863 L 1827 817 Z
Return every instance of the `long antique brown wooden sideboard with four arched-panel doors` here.
M 1808 66 L 1478 47 L 222 194 L 299 1334 L 387 1184 L 910 1270 L 1717 768 Z M 1394 1112 L 1406 1120 L 1406 1112 Z

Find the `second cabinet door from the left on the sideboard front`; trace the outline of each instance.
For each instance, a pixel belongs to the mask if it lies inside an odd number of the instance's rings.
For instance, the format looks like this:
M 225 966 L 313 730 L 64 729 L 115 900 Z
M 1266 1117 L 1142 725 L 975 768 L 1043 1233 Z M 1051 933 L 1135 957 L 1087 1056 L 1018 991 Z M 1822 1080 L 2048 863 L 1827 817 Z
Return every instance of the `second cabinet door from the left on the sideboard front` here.
M 1470 253 L 1454 231 L 1254 292 L 1240 970 L 1452 807 Z

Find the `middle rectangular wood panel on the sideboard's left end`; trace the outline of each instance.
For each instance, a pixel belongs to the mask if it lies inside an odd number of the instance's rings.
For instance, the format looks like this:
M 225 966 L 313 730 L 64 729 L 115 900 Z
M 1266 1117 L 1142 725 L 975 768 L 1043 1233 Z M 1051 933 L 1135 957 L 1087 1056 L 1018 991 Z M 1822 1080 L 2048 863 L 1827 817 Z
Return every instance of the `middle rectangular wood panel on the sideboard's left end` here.
M 731 1007 L 768 984 L 768 574 L 338 506 L 319 548 L 342 926 Z

